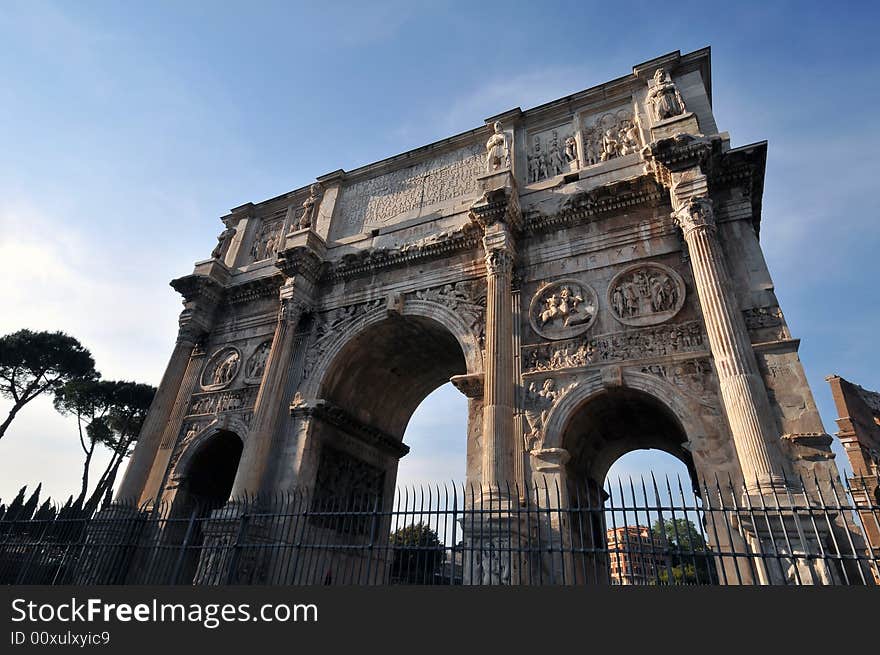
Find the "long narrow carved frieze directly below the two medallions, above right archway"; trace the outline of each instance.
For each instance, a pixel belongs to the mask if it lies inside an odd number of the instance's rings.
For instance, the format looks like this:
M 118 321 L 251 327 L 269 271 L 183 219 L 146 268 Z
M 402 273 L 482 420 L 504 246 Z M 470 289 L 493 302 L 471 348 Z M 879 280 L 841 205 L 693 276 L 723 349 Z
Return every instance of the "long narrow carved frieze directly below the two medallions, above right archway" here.
M 523 348 L 523 373 L 581 368 L 606 362 L 652 359 L 687 352 L 705 352 L 698 321 L 615 332 Z

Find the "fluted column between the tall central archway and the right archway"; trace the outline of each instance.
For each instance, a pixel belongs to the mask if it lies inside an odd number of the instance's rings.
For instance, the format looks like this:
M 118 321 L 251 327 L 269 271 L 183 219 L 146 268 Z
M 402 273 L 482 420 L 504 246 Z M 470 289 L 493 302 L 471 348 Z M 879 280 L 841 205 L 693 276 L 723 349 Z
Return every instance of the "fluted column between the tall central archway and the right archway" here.
M 504 223 L 483 237 L 486 252 L 486 359 L 483 392 L 483 484 L 513 484 L 514 361 L 511 275 L 513 238 Z

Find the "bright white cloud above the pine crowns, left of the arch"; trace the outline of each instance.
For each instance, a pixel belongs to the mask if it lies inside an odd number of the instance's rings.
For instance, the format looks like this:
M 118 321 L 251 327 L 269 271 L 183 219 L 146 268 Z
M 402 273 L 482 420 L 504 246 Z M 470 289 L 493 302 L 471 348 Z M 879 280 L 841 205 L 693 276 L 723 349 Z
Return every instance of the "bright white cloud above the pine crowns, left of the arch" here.
M 28 206 L 0 207 L 0 332 L 62 330 L 92 351 L 105 377 L 155 384 L 179 305 L 148 271 L 126 270 L 98 235 Z

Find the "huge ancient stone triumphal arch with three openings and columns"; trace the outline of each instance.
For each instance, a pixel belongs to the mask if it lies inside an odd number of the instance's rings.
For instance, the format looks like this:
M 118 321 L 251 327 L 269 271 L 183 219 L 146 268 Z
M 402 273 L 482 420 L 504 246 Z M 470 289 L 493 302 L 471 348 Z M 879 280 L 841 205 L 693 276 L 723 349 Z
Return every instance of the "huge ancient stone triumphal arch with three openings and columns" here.
M 638 448 L 745 493 L 836 477 L 761 252 L 766 154 L 716 125 L 708 49 L 674 52 L 233 209 L 171 283 L 118 499 L 390 498 L 450 380 L 482 488 L 601 484 Z

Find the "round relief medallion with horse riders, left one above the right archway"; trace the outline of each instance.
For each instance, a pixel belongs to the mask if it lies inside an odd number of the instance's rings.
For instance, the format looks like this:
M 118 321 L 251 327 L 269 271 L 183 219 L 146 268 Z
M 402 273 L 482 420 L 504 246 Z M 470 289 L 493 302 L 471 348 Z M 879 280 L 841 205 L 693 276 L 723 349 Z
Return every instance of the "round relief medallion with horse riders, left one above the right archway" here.
M 598 308 L 599 297 L 591 286 L 557 280 L 538 289 L 529 305 L 529 322 L 546 339 L 569 339 L 590 329 Z

